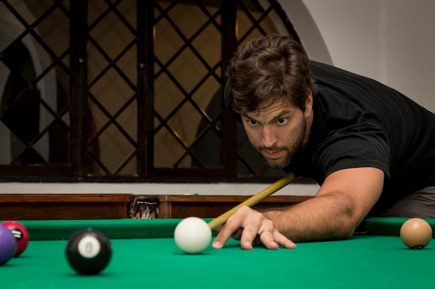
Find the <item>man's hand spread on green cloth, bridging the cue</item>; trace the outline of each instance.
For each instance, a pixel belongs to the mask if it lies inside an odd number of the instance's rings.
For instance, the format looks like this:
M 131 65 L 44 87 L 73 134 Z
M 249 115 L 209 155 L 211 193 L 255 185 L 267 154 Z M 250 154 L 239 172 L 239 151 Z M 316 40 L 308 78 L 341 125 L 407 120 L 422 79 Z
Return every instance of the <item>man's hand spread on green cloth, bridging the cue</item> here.
M 264 245 L 268 249 L 278 249 L 279 245 L 295 249 L 296 245 L 274 228 L 272 220 L 249 207 L 241 207 L 228 218 L 224 225 L 215 228 L 219 231 L 213 241 L 213 248 L 224 247 L 231 237 L 240 240 L 243 249 L 252 249 L 252 243 Z

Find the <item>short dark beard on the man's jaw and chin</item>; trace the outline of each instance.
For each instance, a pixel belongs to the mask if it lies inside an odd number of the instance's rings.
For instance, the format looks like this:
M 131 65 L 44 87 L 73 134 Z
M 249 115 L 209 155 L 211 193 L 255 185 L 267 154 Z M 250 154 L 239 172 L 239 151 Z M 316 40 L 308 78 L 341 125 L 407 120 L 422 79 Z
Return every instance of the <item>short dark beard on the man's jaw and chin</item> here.
M 302 130 L 300 130 L 299 134 L 297 134 L 295 140 L 293 141 L 292 147 L 272 146 L 272 148 L 265 148 L 265 147 L 257 148 L 257 151 L 261 155 L 261 158 L 263 159 L 265 164 L 270 168 L 276 168 L 276 169 L 285 168 L 286 166 L 288 166 L 292 162 L 293 157 L 295 157 L 295 155 L 297 154 L 299 149 L 302 147 L 302 141 L 304 141 L 305 130 L 306 130 L 306 122 L 304 121 L 304 123 L 302 123 Z M 263 155 L 263 153 L 261 153 L 263 150 L 266 150 L 266 149 L 267 150 L 284 150 L 286 152 L 286 155 L 285 155 L 284 159 L 282 159 L 282 160 L 268 159 L 267 157 L 265 157 Z

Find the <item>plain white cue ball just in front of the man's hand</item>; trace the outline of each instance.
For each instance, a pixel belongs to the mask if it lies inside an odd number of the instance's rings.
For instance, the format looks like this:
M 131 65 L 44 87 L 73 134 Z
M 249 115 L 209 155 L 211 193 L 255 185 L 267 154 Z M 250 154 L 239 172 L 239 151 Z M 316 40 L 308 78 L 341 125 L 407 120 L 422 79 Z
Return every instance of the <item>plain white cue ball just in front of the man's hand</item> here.
M 199 254 L 211 241 L 211 229 L 202 218 L 189 217 L 181 220 L 174 231 L 177 247 L 187 254 Z

